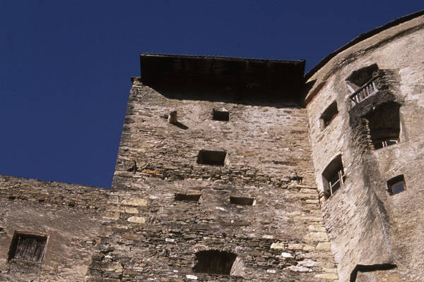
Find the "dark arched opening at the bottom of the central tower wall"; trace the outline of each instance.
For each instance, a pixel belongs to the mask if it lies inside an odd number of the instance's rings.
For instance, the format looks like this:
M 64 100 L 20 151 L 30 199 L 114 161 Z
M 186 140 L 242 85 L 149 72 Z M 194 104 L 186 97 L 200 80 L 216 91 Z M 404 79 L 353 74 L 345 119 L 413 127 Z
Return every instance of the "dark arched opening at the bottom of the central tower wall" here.
M 235 255 L 232 252 L 224 252 L 220 250 L 203 250 L 196 252 L 197 264 L 193 270 L 195 272 L 203 272 L 208 274 L 225 274 L 230 275 L 232 264 L 234 264 Z

